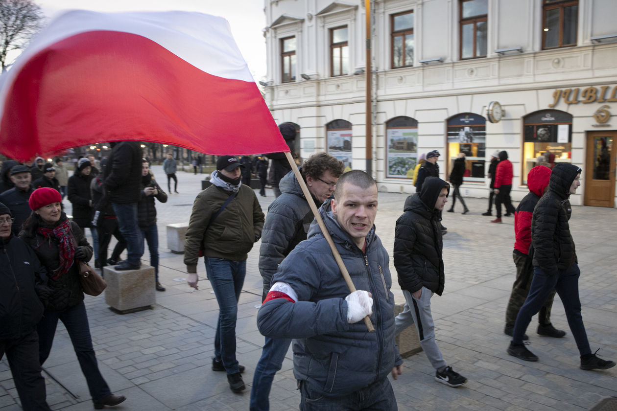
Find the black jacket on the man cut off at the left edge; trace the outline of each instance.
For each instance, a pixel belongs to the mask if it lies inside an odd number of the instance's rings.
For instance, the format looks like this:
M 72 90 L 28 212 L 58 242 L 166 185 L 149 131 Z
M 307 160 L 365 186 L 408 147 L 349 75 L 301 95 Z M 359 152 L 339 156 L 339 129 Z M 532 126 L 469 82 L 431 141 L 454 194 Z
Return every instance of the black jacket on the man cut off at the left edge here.
M 0 239 L 0 340 L 17 340 L 35 330 L 43 303 L 35 287 L 47 280 L 35 253 L 19 238 Z

